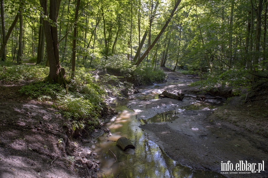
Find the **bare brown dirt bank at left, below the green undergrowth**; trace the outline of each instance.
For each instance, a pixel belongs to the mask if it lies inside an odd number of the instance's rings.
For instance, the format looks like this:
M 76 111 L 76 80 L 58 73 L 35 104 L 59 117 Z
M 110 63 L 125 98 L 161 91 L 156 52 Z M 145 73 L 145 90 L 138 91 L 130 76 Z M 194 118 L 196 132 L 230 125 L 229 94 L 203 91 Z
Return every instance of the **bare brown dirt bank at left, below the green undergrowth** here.
M 67 138 L 66 119 L 49 103 L 19 94 L 21 84 L 0 84 L 0 178 L 96 177 L 95 153 Z

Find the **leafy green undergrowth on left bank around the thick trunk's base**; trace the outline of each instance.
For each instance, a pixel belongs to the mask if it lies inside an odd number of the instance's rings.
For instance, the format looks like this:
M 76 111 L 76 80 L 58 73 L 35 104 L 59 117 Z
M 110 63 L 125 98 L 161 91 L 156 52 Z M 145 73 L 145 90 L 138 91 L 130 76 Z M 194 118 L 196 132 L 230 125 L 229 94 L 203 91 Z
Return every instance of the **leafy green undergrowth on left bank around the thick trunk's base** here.
M 66 70 L 66 80 L 68 81 L 68 94 L 66 89 L 59 84 L 49 84 L 45 82 L 48 67 L 32 64 L 11 64 L 2 62 L 0 71 L 0 82 L 19 83 L 31 81 L 29 85 L 22 86 L 19 92 L 27 95 L 29 99 L 37 99 L 51 103 L 57 108 L 67 120 L 72 123 L 72 129 L 83 129 L 87 127 L 93 130 L 98 127 L 101 118 L 109 113 L 109 107 L 105 103 L 107 92 L 117 95 L 123 88 L 112 86 L 118 80 L 113 75 L 95 77 L 93 69 L 77 68 L 74 79 L 70 79 L 71 71 Z

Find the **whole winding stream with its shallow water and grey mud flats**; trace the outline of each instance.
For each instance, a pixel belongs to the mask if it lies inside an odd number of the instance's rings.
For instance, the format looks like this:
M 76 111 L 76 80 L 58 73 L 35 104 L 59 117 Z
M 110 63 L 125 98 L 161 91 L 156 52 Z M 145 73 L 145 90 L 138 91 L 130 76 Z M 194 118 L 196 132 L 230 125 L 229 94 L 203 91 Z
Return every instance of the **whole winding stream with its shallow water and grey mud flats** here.
M 197 79 L 176 72 L 166 73 L 166 81 L 140 87 L 137 94 L 110 103 L 118 114 L 105 124 L 110 133 L 104 133 L 94 145 L 94 152 L 99 154 L 94 156 L 100 162 L 98 176 L 266 177 L 267 169 L 240 174 L 235 169 L 222 171 L 221 163 L 247 160 L 267 167 L 267 138 L 217 120 L 216 116 L 229 114 L 219 108 L 225 99 L 159 98 L 158 94 L 164 90 L 192 96 L 200 92 L 198 87 L 188 85 Z M 135 149 L 122 151 L 116 146 L 123 136 Z

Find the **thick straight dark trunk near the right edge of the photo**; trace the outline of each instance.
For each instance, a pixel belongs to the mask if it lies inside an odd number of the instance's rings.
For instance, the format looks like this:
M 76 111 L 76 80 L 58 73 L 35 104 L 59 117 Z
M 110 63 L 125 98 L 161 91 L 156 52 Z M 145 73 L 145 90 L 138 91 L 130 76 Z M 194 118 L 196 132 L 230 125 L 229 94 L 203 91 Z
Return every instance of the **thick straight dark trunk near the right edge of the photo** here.
M 261 44 L 261 12 L 262 12 L 262 2 L 263 0 L 258 0 L 258 7 L 256 10 L 257 16 L 257 26 L 256 26 L 256 46 L 255 46 L 255 57 L 253 59 L 253 71 L 258 71 L 258 63 L 260 58 L 260 44 Z

